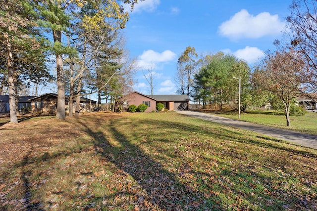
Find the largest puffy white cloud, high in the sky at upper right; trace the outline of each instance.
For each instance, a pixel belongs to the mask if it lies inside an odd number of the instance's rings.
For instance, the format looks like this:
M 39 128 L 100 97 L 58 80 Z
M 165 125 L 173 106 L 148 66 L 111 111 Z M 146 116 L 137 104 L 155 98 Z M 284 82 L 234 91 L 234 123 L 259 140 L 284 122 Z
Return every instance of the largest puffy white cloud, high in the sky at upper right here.
M 285 24 L 278 15 L 262 12 L 254 16 L 242 9 L 219 26 L 219 33 L 230 39 L 261 38 L 280 34 Z

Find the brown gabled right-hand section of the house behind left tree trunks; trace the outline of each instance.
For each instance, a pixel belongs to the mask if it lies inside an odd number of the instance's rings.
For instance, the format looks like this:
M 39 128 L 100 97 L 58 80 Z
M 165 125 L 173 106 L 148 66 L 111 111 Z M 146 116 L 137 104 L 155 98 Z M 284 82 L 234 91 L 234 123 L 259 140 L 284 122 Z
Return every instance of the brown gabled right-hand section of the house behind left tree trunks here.
M 32 113 L 48 113 L 55 114 L 57 110 L 57 94 L 46 93 L 30 99 L 32 102 Z M 65 95 L 65 111 L 68 111 L 69 96 Z M 75 112 L 76 101 L 74 101 L 73 111 Z M 80 112 L 86 113 L 95 111 L 97 101 L 90 100 L 85 97 L 80 97 Z

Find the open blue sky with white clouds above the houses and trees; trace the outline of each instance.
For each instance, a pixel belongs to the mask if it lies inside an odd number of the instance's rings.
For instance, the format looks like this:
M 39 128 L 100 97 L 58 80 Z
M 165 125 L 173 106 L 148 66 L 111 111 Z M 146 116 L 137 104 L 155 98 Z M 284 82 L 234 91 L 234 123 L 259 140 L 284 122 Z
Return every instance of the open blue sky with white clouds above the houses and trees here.
M 153 68 L 154 94 L 176 94 L 177 59 L 187 46 L 218 51 L 253 65 L 280 39 L 291 0 L 145 0 L 130 12 L 124 34 L 137 59 L 136 91 L 150 94 L 142 72 Z M 127 8 L 128 9 L 128 8 Z

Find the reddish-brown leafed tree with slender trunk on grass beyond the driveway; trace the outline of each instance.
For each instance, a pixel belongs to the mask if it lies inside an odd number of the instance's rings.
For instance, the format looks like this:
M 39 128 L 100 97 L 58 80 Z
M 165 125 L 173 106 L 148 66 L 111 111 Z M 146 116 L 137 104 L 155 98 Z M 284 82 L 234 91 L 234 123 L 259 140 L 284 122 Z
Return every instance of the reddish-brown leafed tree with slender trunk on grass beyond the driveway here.
M 254 88 L 268 91 L 284 105 L 286 126 L 290 126 L 290 106 L 292 100 L 305 92 L 305 62 L 301 53 L 294 49 L 281 48 L 267 52 L 262 65 L 252 76 Z

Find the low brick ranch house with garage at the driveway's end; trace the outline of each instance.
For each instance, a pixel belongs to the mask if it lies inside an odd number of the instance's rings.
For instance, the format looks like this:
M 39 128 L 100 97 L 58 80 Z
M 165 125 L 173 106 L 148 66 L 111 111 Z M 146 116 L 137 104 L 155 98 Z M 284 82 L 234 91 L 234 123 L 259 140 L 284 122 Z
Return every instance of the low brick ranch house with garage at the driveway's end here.
M 129 105 L 145 104 L 148 109 L 145 112 L 156 111 L 156 105 L 162 103 L 164 108 L 169 111 L 174 110 L 188 110 L 189 97 L 185 94 L 154 94 L 147 95 L 134 91 L 124 97 L 121 97 L 123 107 L 127 108 Z

